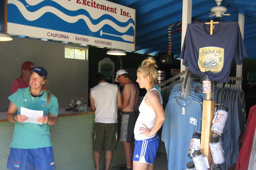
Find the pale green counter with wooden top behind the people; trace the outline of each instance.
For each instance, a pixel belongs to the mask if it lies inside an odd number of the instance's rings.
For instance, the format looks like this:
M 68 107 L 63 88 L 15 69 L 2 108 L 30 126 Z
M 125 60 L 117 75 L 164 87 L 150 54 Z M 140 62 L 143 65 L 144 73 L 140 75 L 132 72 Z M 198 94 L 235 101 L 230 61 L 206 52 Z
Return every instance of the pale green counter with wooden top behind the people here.
M 0 112 L 0 170 L 6 170 L 14 123 Z M 57 124 L 50 126 L 55 170 L 92 170 L 95 168 L 92 149 L 94 111 L 74 112 L 59 109 Z M 105 151 L 102 151 L 101 168 L 105 169 Z M 117 142 L 110 167 L 125 164 L 122 142 Z

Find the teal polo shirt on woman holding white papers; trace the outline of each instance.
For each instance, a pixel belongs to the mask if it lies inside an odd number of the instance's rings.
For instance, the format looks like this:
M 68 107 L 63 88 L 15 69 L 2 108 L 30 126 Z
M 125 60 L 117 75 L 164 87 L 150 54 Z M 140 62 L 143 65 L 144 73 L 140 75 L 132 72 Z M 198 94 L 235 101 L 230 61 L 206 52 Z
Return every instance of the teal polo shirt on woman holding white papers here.
M 58 115 L 59 104 L 57 98 L 51 94 L 51 99 L 46 105 L 46 91 L 43 90 L 41 97 L 32 97 L 29 88 L 19 88 L 8 98 L 17 107 L 17 114 L 20 114 L 20 108 L 25 107 L 32 110 L 43 110 L 45 115 L 49 113 Z M 19 123 L 15 122 L 13 138 L 10 147 L 20 149 L 34 149 L 52 146 L 50 126 L 46 124 Z

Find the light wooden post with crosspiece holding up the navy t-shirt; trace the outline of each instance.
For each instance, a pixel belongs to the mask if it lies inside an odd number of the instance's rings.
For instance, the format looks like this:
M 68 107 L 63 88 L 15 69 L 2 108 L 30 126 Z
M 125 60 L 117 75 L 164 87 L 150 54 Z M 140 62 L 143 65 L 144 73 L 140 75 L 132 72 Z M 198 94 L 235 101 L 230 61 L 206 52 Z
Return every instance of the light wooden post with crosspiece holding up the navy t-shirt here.
M 207 22 L 205 24 L 210 24 L 210 35 L 213 34 L 213 24 L 218 24 L 219 22 Z M 210 150 L 210 138 L 212 135 L 212 120 L 214 116 L 214 100 L 204 100 L 203 101 L 203 115 L 202 115 L 202 134 L 201 134 L 201 149 L 203 149 L 203 154 L 208 158 L 209 166 L 211 167 L 212 153 Z

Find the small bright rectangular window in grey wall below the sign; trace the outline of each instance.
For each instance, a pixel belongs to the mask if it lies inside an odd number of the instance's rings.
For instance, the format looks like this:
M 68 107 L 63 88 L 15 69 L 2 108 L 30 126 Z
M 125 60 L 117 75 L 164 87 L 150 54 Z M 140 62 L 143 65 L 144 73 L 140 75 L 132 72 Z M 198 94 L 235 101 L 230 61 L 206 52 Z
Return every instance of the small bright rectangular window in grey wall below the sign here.
M 88 48 L 65 47 L 66 59 L 88 60 Z

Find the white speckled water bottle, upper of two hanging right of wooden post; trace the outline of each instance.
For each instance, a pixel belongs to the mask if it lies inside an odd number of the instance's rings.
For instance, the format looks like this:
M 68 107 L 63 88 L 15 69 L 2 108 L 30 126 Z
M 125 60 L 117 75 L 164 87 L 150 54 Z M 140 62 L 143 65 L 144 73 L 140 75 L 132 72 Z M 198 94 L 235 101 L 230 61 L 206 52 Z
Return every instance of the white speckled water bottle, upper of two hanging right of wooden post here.
M 213 119 L 212 131 L 217 134 L 221 134 L 225 127 L 228 118 L 228 108 L 222 106 L 216 111 L 215 117 Z

